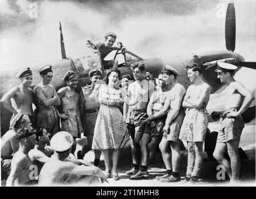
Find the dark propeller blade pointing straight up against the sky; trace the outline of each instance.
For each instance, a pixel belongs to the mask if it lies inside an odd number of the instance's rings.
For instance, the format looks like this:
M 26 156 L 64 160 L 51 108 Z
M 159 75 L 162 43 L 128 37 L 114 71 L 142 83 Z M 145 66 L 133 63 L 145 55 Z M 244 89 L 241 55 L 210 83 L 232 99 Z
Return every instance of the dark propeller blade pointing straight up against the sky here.
M 225 21 L 225 42 L 227 50 L 235 50 L 235 6 L 229 3 Z

